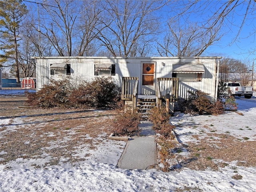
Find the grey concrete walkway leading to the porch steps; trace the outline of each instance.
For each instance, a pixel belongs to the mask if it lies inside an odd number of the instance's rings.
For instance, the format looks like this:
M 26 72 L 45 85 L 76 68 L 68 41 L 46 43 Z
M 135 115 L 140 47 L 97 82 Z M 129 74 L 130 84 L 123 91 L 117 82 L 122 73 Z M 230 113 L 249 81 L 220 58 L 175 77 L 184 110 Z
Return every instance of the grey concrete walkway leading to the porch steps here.
M 139 127 L 142 129 L 140 136 L 128 140 L 117 164 L 119 168 L 146 170 L 157 163 L 156 133 L 152 123 L 142 121 Z

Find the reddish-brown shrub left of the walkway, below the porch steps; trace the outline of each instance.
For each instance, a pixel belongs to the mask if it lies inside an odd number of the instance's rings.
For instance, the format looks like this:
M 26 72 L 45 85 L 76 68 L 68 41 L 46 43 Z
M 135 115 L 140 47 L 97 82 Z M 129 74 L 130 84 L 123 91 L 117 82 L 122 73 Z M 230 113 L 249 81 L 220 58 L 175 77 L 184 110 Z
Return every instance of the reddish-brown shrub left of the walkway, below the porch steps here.
M 114 136 L 132 136 L 138 132 L 138 124 L 140 123 L 141 116 L 138 113 L 126 111 L 117 116 L 113 122 L 112 133 Z

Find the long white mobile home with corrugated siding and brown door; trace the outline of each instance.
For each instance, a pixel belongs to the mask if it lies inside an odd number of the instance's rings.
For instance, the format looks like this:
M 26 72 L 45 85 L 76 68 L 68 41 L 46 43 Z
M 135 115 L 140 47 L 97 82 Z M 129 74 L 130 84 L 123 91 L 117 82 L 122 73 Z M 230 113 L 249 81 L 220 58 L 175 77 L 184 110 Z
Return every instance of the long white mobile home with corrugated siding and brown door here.
M 221 57 L 35 57 L 36 89 L 40 90 L 49 79 L 60 76 L 112 76 L 121 86 L 135 80 L 138 95 L 174 95 L 188 98 L 188 90 L 202 90 L 217 98 L 218 68 Z M 127 84 L 127 83 L 126 83 Z M 134 83 L 132 84 L 134 86 Z M 163 87 L 169 90 L 163 91 Z M 125 89 L 125 90 L 124 90 Z M 128 87 L 123 88 L 124 91 Z

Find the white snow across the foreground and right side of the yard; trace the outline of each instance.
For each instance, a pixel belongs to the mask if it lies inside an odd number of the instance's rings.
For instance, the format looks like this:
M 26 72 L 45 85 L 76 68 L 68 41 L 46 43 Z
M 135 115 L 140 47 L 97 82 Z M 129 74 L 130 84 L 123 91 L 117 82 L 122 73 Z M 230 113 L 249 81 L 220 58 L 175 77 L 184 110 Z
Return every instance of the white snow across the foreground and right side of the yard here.
M 5 91 L 5 90 L 4 90 Z M 7 92 L 7 91 L 6 91 Z M 1 90 L 1 94 L 3 94 Z M 255 100 L 255 94 L 252 101 Z M 256 140 L 256 102 L 237 99 L 238 112 L 228 112 L 220 116 L 190 116 L 178 114 L 171 119 L 177 126 L 179 139 L 186 143 L 191 140 L 188 132 L 200 132 L 200 128 L 208 126 L 217 132 L 226 132 L 237 138 L 248 137 Z M 7 119 L 0 124 L 8 123 Z M 182 126 L 180 126 L 182 124 Z M 200 126 L 199 126 L 200 125 Z M 239 126 L 237 126 L 239 125 Z M 15 126 L 13 127 L 15 129 Z M 121 143 L 122 144 L 122 143 Z M 106 153 L 109 148 L 115 150 Z M 107 150 L 108 148 L 108 150 Z M 195 171 L 183 169 L 181 172 L 160 172 L 157 170 L 123 170 L 116 167 L 123 148 L 117 148 L 116 142 L 102 142 L 100 151 L 94 152 L 94 159 L 84 161 L 79 166 L 64 164 L 49 168 L 22 168 L 24 162 L 15 169 L 8 169 L 0 165 L 1 192 L 73 192 L 73 191 L 176 191 L 190 188 L 191 191 L 204 192 L 253 192 L 256 191 L 256 168 L 236 166 L 236 162 L 229 162 L 220 171 Z M 0 151 L 1 154 L 4 152 Z M 80 153 L 83 155 L 83 152 Z M 18 161 L 18 160 L 16 160 Z M 40 161 L 40 159 L 38 159 Z M 17 163 L 17 162 L 16 162 Z M 9 165 L 12 166 L 12 165 Z M 242 176 L 235 180 L 234 167 Z M 186 187 L 186 188 L 185 188 Z M 183 191 L 182 190 L 182 191 Z

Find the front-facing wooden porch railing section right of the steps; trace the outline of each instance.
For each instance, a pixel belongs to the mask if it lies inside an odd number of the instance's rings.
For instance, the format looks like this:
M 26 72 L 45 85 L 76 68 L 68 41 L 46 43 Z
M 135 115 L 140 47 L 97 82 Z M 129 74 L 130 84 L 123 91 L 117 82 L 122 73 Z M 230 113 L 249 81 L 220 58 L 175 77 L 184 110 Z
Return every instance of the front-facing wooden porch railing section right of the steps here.
M 170 102 L 178 98 L 178 78 L 157 78 L 156 79 L 157 104 L 161 105 L 161 99 L 166 100 L 166 94 L 170 94 Z

